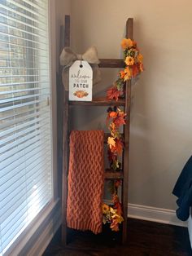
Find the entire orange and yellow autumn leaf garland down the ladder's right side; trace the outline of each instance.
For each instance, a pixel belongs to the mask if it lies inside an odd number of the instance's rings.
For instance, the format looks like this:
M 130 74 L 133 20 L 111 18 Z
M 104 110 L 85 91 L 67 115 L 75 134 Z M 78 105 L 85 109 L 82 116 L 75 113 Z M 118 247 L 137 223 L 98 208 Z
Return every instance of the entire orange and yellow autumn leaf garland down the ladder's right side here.
M 115 99 L 118 101 L 120 97 L 124 97 L 125 82 L 136 77 L 143 71 L 142 54 L 137 48 L 137 43 L 130 38 L 124 38 L 121 42 L 124 49 L 124 70 L 120 70 L 116 82 L 107 90 L 107 99 Z M 119 107 L 107 109 L 107 126 L 110 130 L 110 136 L 107 139 L 108 145 L 108 161 L 110 169 L 117 171 L 121 169 L 119 157 L 124 148 L 124 141 L 120 134 L 120 126 L 125 125 L 126 113 Z M 110 191 L 112 206 L 103 204 L 103 223 L 111 223 L 112 231 L 119 231 L 119 224 L 124 221 L 122 217 L 122 207 L 118 196 L 118 188 L 120 180 L 111 180 Z

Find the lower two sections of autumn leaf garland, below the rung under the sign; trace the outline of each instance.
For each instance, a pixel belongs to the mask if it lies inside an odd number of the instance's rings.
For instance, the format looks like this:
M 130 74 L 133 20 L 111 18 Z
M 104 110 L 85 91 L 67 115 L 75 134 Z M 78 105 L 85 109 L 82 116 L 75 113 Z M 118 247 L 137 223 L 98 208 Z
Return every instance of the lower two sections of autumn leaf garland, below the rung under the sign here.
M 124 142 L 120 134 L 120 126 L 124 126 L 126 114 L 117 108 L 107 109 L 107 126 L 110 130 L 110 136 L 107 139 L 108 145 L 108 160 L 110 169 L 113 171 L 120 170 L 121 163 L 118 157 L 122 154 Z M 120 230 L 120 223 L 124 221 L 122 217 L 122 207 L 118 196 L 118 188 L 120 187 L 120 180 L 111 180 L 110 191 L 112 206 L 103 204 L 103 223 L 111 223 L 111 231 L 118 232 Z

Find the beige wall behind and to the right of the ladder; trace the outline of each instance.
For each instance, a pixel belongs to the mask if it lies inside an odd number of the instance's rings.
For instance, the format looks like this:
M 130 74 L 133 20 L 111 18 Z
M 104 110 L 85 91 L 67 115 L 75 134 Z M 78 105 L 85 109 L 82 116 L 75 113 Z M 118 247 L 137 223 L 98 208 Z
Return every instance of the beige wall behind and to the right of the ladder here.
M 172 188 L 192 152 L 192 2 L 71 2 L 72 48 L 82 52 L 95 45 L 100 58 L 120 57 L 125 22 L 134 19 L 134 39 L 146 71 L 133 86 L 129 202 L 174 210 Z M 116 73 L 103 71 L 103 83 L 94 92 L 110 86 Z M 105 109 L 89 117 L 91 127 L 103 127 Z M 84 129 L 79 111 L 73 121 Z M 84 111 L 89 115 L 89 109 Z

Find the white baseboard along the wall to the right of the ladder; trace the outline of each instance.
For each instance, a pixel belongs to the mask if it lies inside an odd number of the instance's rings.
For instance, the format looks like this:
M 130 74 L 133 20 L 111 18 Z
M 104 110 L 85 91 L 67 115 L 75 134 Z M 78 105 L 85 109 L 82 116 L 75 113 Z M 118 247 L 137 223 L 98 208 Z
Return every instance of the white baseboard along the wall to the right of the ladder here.
M 107 204 L 111 201 L 105 200 Z M 128 205 L 128 217 L 139 218 L 156 223 L 165 223 L 175 226 L 187 227 L 187 222 L 182 222 L 176 216 L 175 210 L 156 208 L 146 205 Z

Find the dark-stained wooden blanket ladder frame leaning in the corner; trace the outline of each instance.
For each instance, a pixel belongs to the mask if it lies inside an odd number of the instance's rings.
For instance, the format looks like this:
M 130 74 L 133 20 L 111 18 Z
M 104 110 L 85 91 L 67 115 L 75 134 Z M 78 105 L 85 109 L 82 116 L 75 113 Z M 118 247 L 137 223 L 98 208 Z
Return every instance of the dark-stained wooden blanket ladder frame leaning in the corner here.
M 127 21 L 127 38 L 133 38 L 133 19 Z M 63 32 L 61 32 L 62 34 Z M 63 39 L 62 39 L 63 40 Z M 61 41 L 61 44 L 63 41 Z M 70 46 L 70 16 L 65 17 L 65 30 L 64 30 L 64 46 Z M 60 46 L 60 49 L 63 49 Z M 118 59 L 101 59 L 100 68 L 124 68 L 124 61 Z M 59 76 L 62 69 L 59 68 Z M 62 90 L 60 90 L 62 92 Z M 60 97 L 60 96 L 59 96 Z M 95 98 L 91 102 L 88 101 L 68 101 L 68 93 L 63 90 L 63 120 L 59 121 L 63 123 L 63 200 L 62 200 L 62 241 L 63 245 L 67 245 L 67 224 L 66 224 L 66 212 L 67 212 L 67 196 L 68 196 L 68 118 L 69 118 L 69 105 L 76 106 L 123 106 L 125 113 L 130 116 L 130 100 L 131 100 L 131 82 L 126 82 L 125 86 L 125 99 L 120 99 L 118 102 L 115 100 L 108 100 L 105 97 Z M 60 139 L 60 135 L 59 135 Z M 123 243 L 127 241 L 127 205 L 128 205 L 128 173 L 129 173 L 129 121 L 124 126 L 124 154 L 123 154 L 123 171 L 111 172 L 106 171 L 105 179 L 123 179 L 122 185 L 122 204 L 124 212 L 123 231 L 121 239 Z

